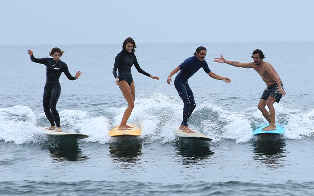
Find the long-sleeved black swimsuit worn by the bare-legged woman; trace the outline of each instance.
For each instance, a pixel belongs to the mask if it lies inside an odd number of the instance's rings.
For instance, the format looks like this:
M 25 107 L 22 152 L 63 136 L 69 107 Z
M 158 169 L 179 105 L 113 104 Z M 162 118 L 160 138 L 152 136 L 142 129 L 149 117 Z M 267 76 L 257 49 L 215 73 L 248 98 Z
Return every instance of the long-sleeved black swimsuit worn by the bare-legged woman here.
M 126 50 L 122 50 L 117 56 L 114 61 L 114 67 L 113 67 L 113 76 L 114 78 L 117 78 L 117 69 L 119 72 L 119 82 L 120 81 L 126 81 L 129 86 L 133 82 L 133 77 L 131 73 L 132 65 L 134 64 L 135 68 L 139 73 L 142 73 L 143 75 L 150 76 L 149 73 L 145 72 L 141 69 L 139 66 L 136 56 L 134 53 L 129 53 Z

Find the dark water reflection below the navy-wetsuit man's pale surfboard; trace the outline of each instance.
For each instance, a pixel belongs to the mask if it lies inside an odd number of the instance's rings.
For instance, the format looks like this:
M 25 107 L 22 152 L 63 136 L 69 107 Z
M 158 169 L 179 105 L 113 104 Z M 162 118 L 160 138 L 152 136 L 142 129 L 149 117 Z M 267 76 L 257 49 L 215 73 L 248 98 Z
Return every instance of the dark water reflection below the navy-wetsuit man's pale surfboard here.
M 197 164 L 200 160 L 208 159 L 214 154 L 209 148 L 208 141 L 180 139 L 175 142 L 175 147 L 183 159 L 183 165 Z

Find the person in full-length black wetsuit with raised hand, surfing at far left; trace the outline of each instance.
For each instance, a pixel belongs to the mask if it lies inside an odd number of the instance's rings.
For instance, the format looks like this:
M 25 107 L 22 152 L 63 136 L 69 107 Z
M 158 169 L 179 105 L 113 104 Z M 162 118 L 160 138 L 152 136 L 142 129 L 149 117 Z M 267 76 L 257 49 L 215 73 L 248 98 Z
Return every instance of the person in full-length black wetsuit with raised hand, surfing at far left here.
M 81 71 L 78 71 L 75 74 L 75 77 L 70 74 L 67 64 L 60 60 L 63 53 L 64 51 L 60 48 L 54 47 L 49 52 L 49 55 L 52 56 L 52 58 L 35 58 L 33 51 L 28 49 L 31 61 L 41 63 L 46 66 L 46 84 L 44 87 L 43 106 L 45 115 L 51 124 L 51 126 L 47 129 L 55 129 L 57 132 L 62 132 L 60 116 L 56 109 L 56 104 L 61 94 L 61 86 L 59 82 L 61 73 L 64 72 L 69 80 L 76 80 L 82 74 Z

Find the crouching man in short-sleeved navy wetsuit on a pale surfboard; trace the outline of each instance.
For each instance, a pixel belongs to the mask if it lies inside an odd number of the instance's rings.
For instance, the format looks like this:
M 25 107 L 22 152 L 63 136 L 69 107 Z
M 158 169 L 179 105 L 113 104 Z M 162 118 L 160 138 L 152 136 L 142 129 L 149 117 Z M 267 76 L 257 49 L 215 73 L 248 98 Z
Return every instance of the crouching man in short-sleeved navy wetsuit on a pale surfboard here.
M 194 73 L 196 73 L 200 68 L 203 68 L 203 70 L 209 74 L 210 77 L 217 80 L 223 80 L 226 83 L 231 82 L 228 77 L 222 77 L 211 72 L 205 60 L 206 52 L 207 51 L 205 47 L 198 47 L 194 53 L 194 56 L 185 59 L 185 61 L 176 67 L 167 78 L 167 83 L 170 85 L 172 81 L 171 77 L 180 71 L 175 78 L 174 85 L 184 103 L 183 120 L 179 127 L 179 130 L 182 130 L 183 132 L 194 133 L 194 131 L 192 131 L 187 124 L 187 120 L 190 118 L 193 110 L 196 107 L 194 95 L 188 84 L 188 79 L 192 77 Z

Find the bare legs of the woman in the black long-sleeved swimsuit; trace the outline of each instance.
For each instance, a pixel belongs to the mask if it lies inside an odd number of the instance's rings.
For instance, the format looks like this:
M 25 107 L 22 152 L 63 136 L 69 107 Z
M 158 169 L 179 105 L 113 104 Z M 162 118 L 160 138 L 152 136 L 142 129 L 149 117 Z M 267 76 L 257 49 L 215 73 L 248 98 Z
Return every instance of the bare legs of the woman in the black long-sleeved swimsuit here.
M 127 130 L 131 128 L 130 126 L 127 125 L 127 121 L 132 113 L 132 110 L 134 108 L 134 101 L 135 101 L 135 85 L 134 82 L 129 84 L 126 81 L 120 81 L 119 82 L 119 88 L 122 91 L 123 97 L 126 99 L 128 102 L 128 107 L 126 111 L 123 114 L 119 129 L 120 130 Z

